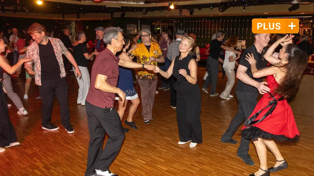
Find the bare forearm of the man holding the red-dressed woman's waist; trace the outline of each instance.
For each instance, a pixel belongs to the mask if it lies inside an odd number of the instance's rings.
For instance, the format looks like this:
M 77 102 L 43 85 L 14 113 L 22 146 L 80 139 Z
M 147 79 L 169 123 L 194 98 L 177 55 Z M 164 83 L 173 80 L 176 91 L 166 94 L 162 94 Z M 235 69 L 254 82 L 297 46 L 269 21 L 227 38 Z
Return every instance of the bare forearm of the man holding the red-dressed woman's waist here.
M 246 70 L 247 68 L 245 66 L 239 65 L 236 71 L 236 77 L 245 84 L 256 87 L 260 94 L 264 94 L 270 91 L 270 89 L 266 86 L 268 84 L 267 82 L 257 82 L 256 80 L 253 80 L 245 73 Z

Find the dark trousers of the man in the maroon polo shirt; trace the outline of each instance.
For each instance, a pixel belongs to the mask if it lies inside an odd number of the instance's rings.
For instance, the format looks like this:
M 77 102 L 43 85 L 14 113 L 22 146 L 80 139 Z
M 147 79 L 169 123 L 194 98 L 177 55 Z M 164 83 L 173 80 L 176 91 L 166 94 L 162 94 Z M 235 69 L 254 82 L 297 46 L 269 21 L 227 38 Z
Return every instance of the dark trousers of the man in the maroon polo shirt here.
M 114 107 L 101 108 L 88 101 L 85 101 L 85 106 L 90 136 L 85 176 L 90 176 L 93 175 L 95 168 L 109 170 L 110 164 L 122 147 L 124 130 L 120 116 Z M 106 133 L 109 138 L 102 150 Z

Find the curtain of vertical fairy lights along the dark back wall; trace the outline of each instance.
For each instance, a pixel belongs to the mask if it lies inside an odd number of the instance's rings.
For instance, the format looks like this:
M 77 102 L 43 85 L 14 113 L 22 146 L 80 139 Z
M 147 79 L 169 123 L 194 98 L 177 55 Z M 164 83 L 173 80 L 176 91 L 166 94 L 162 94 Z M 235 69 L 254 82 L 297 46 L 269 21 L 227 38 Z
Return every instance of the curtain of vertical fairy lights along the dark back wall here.
M 210 44 L 213 34 L 219 29 L 225 31 L 225 38 L 237 36 L 239 40 L 246 40 L 246 46 L 252 41 L 252 17 L 200 17 L 175 19 L 174 31 L 180 29 L 196 35 L 196 44 L 204 47 Z M 219 25 L 218 25 L 219 23 Z

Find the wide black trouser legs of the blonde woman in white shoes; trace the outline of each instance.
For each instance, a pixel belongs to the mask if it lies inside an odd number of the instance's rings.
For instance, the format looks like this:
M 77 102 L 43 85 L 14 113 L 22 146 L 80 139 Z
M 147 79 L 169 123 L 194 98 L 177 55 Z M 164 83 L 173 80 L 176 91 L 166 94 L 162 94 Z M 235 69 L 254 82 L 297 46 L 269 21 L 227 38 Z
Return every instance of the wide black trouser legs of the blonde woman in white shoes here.
M 197 85 L 198 86 L 198 85 Z M 185 87 L 182 87 L 185 89 Z M 181 92 L 177 91 L 176 103 L 177 123 L 181 142 L 192 140 L 194 143 L 202 143 L 201 93 L 197 90 Z

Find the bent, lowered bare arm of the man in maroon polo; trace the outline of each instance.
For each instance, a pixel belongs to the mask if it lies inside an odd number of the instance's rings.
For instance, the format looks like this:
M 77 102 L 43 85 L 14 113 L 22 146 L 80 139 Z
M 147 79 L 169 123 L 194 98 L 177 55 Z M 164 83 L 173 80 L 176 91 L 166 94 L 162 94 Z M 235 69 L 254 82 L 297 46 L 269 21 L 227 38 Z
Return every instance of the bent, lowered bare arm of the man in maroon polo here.
M 122 102 L 124 103 L 125 93 L 121 89 L 119 89 L 117 87 L 113 87 L 110 84 L 108 84 L 106 82 L 107 78 L 108 78 L 108 76 L 106 76 L 106 75 L 97 74 L 96 80 L 95 80 L 95 85 L 94 85 L 95 89 L 98 89 L 98 90 L 103 91 L 103 92 L 116 93 L 122 98 Z

